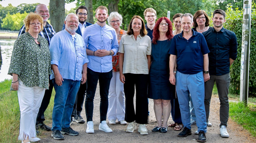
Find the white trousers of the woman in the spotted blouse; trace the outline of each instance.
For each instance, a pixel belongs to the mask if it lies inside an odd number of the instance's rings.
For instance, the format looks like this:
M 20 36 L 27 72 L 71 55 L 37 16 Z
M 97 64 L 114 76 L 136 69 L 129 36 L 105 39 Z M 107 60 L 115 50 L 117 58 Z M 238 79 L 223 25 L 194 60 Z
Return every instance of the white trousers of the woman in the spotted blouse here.
M 29 136 L 36 137 L 35 122 L 39 108 L 44 98 L 45 88 L 26 87 L 19 81 L 18 100 L 20 105 L 20 135 L 19 140 Z

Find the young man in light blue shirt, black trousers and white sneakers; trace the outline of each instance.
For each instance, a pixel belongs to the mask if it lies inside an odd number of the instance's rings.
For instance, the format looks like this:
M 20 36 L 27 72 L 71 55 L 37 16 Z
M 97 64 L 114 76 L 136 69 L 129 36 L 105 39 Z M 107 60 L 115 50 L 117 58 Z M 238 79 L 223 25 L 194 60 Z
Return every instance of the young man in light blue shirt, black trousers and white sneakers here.
M 99 80 L 100 87 L 100 124 L 99 130 L 112 132 L 106 124 L 108 112 L 108 90 L 112 78 L 112 56 L 118 52 L 116 31 L 106 25 L 108 8 L 99 6 L 96 9 L 97 22 L 85 28 L 83 38 L 88 45 L 86 52 L 90 63 L 87 68 L 87 93 L 85 98 L 85 113 L 87 118 L 86 133 L 94 133 L 93 129 L 93 99 Z

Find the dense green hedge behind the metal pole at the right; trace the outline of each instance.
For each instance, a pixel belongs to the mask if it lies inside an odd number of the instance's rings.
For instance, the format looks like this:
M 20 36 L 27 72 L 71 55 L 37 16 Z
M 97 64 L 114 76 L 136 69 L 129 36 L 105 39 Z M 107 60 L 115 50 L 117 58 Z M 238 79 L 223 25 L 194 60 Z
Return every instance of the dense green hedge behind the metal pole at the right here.
M 256 97 L 256 11 L 255 4 L 252 4 L 251 13 L 251 36 L 250 36 L 250 67 L 249 67 L 249 96 Z M 243 11 L 239 8 L 227 8 L 226 22 L 224 27 L 235 32 L 238 42 L 238 55 L 233 65 L 230 67 L 230 93 L 240 92 L 240 67 L 241 67 L 241 43 Z

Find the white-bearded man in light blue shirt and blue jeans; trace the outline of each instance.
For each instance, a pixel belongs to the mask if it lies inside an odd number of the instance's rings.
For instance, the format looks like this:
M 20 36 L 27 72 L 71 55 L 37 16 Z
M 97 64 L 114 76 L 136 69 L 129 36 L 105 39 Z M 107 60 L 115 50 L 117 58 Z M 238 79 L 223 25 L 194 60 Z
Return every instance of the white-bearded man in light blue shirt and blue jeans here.
M 87 80 L 89 62 L 84 41 L 76 34 L 78 17 L 73 13 L 68 14 L 64 23 L 66 28 L 55 34 L 49 47 L 54 73 L 50 79 L 53 79 L 56 92 L 52 111 L 52 137 L 55 140 L 63 140 L 61 134 L 79 134 L 70 128 L 70 116 L 80 82 L 84 84 Z

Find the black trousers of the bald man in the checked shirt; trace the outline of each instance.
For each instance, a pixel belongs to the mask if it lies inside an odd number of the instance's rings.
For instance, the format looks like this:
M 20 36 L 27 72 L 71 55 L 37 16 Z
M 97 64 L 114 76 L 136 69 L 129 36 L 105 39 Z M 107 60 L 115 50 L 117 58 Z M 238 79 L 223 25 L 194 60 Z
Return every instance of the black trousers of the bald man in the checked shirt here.
M 49 76 L 49 78 L 50 78 L 50 76 Z M 38 116 L 36 118 L 36 123 L 35 123 L 36 125 L 40 122 L 45 121 L 44 112 L 50 103 L 50 99 L 52 96 L 52 88 L 53 88 L 53 82 L 50 79 L 49 79 L 49 84 L 50 84 L 49 90 L 45 90 L 44 98 L 42 100 L 41 107 L 39 108 L 39 111 L 38 111 Z

